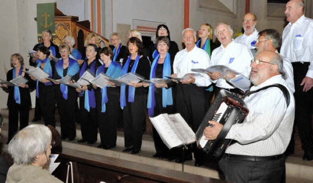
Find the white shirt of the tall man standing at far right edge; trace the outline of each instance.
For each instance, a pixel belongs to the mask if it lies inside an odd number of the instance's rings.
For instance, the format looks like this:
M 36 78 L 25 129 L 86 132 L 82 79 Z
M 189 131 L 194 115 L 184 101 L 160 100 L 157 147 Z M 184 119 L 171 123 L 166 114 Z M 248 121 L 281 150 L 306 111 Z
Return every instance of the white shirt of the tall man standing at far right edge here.
M 304 15 L 289 22 L 283 31 L 280 54 L 291 62 L 310 62 L 307 77 L 313 78 L 313 20 Z

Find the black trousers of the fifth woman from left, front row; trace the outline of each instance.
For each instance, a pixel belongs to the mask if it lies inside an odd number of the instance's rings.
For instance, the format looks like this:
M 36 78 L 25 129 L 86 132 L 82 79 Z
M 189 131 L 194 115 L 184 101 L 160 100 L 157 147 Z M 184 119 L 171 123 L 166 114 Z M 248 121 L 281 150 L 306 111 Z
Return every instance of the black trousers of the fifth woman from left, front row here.
M 120 95 L 118 92 L 111 92 L 111 89 L 112 88 L 107 88 L 108 102 L 106 103 L 106 112 L 101 112 L 101 100 L 97 100 L 98 128 L 100 132 L 101 145 L 115 147 L 117 122 L 120 109 Z M 101 95 L 100 92 L 99 94 Z

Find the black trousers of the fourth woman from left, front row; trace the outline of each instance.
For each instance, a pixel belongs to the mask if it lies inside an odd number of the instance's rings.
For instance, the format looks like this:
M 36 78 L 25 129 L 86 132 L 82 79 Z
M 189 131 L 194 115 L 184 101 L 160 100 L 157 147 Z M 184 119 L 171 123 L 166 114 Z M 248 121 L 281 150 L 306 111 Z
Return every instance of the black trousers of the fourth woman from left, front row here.
M 85 109 L 85 94 L 79 99 L 79 116 L 83 140 L 96 142 L 98 136 L 97 109 L 90 107 L 89 112 Z

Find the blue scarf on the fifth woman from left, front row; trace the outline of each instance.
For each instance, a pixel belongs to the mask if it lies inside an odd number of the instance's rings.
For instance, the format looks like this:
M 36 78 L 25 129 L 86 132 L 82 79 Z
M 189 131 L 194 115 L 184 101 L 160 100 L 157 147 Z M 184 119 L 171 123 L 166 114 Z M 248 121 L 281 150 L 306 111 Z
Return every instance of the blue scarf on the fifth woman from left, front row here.
M 96 76 L 98 76 L 100 73 L 104 73 L 104 71 L 105 71 L 105 64 L 98 67 Z M 122 72 L 121 64 L 112 61 L 105 74 L 110 76 L 112 79 L 117 79 L 118 77 L 121 76 L 121 72 Z M 104 87 L 101 89 L 101 96 L 102 96 L 101 97 L 102 99 L 101 112 L 106 112 L 106 103 L 108 102 L 107 87 Z

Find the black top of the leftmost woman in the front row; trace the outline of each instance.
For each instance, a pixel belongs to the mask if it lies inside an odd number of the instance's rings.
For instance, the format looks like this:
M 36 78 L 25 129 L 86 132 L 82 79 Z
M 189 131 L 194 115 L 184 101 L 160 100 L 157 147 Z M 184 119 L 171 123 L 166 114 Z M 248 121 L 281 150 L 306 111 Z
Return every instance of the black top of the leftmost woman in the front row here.
M 28 69 L 26 69 L 28 70 Z M 20 96 L 21 96 L 21 106 L 31 106 L 31 100 L 30 100 L 30 90 L 34 89 L 36 87 L 35 81 L 33 81 L 28 74 L 25 73 L 24 77 L 28 80 L 26 83 L 28 85 L 28 88 L 22 88 L 20 89 Z M 6 74 L 6 81 L 11 81 L 13 79 L 13 69 L 9 70 Z M 14 99 L 14 86 L 8 86 L 7 89 L 3 88 L 3 90 L 7 93 L 9 93 L 7 105 L 11 105 L 15 103 Z

